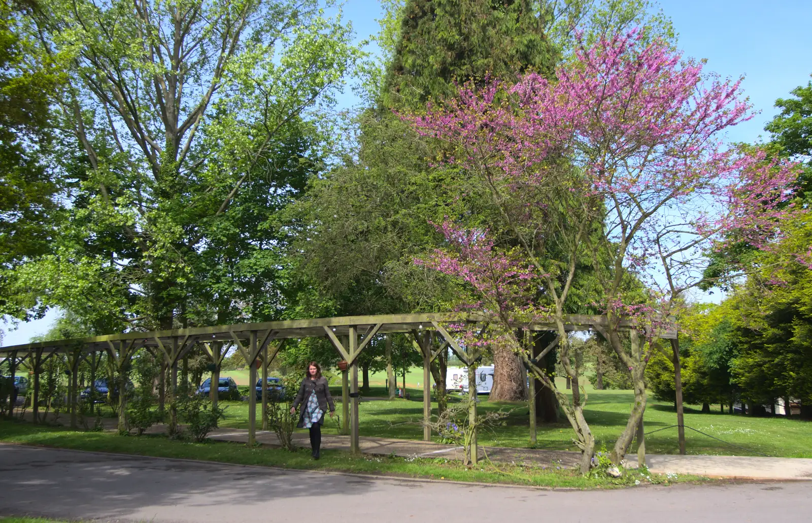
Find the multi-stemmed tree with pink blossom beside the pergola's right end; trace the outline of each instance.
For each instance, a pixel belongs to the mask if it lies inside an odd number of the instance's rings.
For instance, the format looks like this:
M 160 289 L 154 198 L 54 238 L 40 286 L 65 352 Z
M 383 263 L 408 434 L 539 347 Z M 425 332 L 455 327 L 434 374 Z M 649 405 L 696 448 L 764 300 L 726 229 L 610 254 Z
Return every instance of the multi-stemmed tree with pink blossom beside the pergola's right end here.
M 658 343 L 661 318 L 675 313 L 701 281 L 706 253 L 732 238 L 766 248 L 781 235 L 782 218 L 801 212 L 784 205 L 796 166 L 725 144 L 725 130 L 752 117 L 749 106 L 740 82 L 702 68 L 630 32 L 581 47 L 556 80 L 531 73 L 516 84 L 466 85 L 425 115 L 405 116 L 418 132 L 445 142 L 450 153 L 442 162 L 464 168 L 487 188 L 507 224 L 499 233 L 520 246 L 491 264 L 488 287 L 472 279 L 483 263 L 472 245 L 495 252 L 481 233 L 465 236 L 473 233 L 446 226 L 451 249 L 435 253 L 432 263 L 477 289 L 480 303 L 471 305 L 499 305 L 505 332 L 512 331 L 510 318 L 538 310 L 533 304 L 549 305 L 560 362 L 576 380 L 570 421 L 585 453 L 584 472 L 594 439 L 577 416 L 581 400 L 564 328 L 578 268 L 593 267 L 603 289 L 595 300 L 607 318 L 596 329 L 633 378 L 635 403 L 611 453 L 619 463 L 646 407 L 646 351 Z M 468 246 L 455 240 L 464 237 Z M 465 249 L 469 264 L 455 264 Z M 533 276 L 524 281 L 537 284 L 513 286 L 511 299 L 500 300 L 500 278 L 517 278 L 528 267 Z M 637 332 L 630 335 L 632 354 L 620 330 L 628 317 L 644 335 L 637 343 Z M 514 341 L 517 352 L 526 352 Z M 531 370 L 555 391 L 542 370 Z

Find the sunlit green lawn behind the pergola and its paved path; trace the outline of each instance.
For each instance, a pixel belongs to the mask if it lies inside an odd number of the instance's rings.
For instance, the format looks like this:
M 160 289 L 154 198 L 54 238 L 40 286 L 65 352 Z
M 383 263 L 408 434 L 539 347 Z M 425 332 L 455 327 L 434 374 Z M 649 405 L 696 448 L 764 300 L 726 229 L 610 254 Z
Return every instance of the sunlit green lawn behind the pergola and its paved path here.
M 372 380 L 370 380 L 372 381 Z M 340 399 L 339 387 L 331 387 L 336 400 Z M 611 448 L 623 430 L 628 412 L 633 402 L 632 391 L 595 391 L 586 388 L 589 399 L 585 408 L 586 420 L 598 440 L 598 447 L 605 444 Z M 382 436 L 399 439 L 422 439 L 422 390 L 411 389 L 412 400 L 374 400 L 360 404 L 359 428 L 362 436 Z M 368 396 L 385 396 L 382 386 L 372 387 Z M 454 399 L 459 397 L 451 395 Z M 248 427 L 248 404 L 244 402 L 223 402 L 227 405 L 226 419 L 221 426 L 234 428 Z M 436 403 L 432 404 L 437 407 Z M 480 435 L 480 442 L 499 447 L 528 447 L 529 420 L 526 404 L 490 402 L 482 396 L 482 409 L 512 410 L 504 426 Z M 257 419 L 261 419 L 257 406 Z M 785 419 L 784 417 L 749 417 L 741 414 L 723 414 L 717 410 L 701 413 L 700 406 L 686 406 L 685 425 L 701 430 L 747 449 L 762 452 L 768 456 L 812 458 L 812 423 Z M 341 412 L 340 406 L 337 407 Z M 664 404 L 649 398 L 644 418 L 646 431 L 660 430 L 646 437 L 646 450 L 652 453 L 676 454 L 679 450 L 676 427 L 676 412 L 672 404 Z M 333 421 L 327 421 L 326 431 L 337 430 Z M 555 425 L 538 424 L 539 448 L 555 450 L 570 449 L 572 429 L 565 418 Z M 757 456 L 741 448 L 733 447 L 693 430 L 685 431 L 689 454 L 719 454 Z M 632 448 L 635 451 L 636 447 Z

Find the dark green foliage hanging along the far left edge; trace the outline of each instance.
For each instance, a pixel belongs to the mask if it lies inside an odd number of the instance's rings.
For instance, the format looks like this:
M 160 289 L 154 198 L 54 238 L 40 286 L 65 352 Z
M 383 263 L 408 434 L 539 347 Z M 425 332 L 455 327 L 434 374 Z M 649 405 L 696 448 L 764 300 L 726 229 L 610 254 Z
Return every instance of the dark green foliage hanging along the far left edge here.
M 29 292 L 15 292 L 11 270 L 48 252 L 60 207 L 47 155 L 57 125 L 49 93 L 61 78 L 20 31 L 25 5 L 0 5 L 0 313 L 17 318 L 37 303 Z

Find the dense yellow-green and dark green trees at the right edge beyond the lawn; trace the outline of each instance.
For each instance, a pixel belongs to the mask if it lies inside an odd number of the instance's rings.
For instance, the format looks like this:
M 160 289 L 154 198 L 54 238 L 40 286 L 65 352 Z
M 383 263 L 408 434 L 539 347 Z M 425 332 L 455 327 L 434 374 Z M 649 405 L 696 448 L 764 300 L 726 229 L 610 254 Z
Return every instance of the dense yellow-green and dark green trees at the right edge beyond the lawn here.
M 775 102 L 781 112 L 767 123 L 772 136 L 764 149 L 772 156 L 810 162 L 812 84 L 791 93 L 793 97 Z M 719 384 L 727 381 L 727 390 L 746 403 L 800 400 L 803 415 L 812 416 L 810 173 L 807 163 L 797 180 L 795 212 L 782 223 L 780 242 L 768 249 L 734 244 L 711 258 L 705 272 L 709 282 L 742 267 L 746 278 L 733 281 L 728 298 L 700 329 L 706 340 L 693 358 L 698 373 L 692 383 L 702 394 L 707 389 L 718 392 Z

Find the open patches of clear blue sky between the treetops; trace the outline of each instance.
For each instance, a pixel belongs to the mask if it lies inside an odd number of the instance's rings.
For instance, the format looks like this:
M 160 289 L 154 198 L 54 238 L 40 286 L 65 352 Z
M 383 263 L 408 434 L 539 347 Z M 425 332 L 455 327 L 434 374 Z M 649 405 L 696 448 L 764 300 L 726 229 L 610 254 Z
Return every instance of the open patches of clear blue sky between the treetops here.
M 723 77 L 745 76 L 742 83 L 754 119 L 733 128 L 728 139 L 753 142 L 775 115 L 775 99 L 810 80 L 812 73 L 812 0 L 661 0 L 686 56 L 707 58 L 706 71 Z M 359 39 L 378 32 L 378 0 L 347 0 L 343 8 Z M 351 105 L 352 96 L 341 98 Z M 4 345 L 22 344 L 47 331 L 55 314 L 7 331 Z M 0 325 L 0 327 L 3 327 Z

